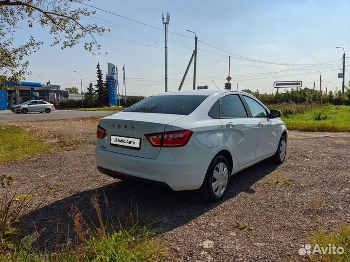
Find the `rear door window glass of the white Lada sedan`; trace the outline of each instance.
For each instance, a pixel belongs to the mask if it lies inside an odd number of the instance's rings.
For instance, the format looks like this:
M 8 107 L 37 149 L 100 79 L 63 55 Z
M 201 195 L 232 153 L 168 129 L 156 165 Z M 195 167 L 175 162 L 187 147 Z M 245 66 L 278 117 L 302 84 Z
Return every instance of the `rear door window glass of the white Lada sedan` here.
M 238 95 L 221 98 L 222 117 L 247 117 L 245 107 Z

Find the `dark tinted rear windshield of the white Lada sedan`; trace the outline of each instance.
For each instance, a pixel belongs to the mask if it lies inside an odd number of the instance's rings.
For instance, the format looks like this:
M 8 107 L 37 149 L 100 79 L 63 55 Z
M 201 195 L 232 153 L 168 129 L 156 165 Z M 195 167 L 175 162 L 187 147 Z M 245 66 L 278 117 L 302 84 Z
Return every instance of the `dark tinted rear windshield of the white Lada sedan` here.
M 142 112 L 172 115 L 189 115 L 208 96 L 154 96 L 124 110 L 124 112 Z

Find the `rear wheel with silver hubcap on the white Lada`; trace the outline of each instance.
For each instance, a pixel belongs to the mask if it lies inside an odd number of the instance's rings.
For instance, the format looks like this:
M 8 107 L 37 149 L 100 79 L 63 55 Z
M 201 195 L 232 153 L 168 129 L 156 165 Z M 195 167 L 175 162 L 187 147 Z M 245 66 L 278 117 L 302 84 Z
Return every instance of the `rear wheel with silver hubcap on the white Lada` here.
M 227 159 L 221 155 L 216 156 L 211 161 L 199 189 L 202 199 L 212 203 L 220 201 L 227 192 L 230 172 Z

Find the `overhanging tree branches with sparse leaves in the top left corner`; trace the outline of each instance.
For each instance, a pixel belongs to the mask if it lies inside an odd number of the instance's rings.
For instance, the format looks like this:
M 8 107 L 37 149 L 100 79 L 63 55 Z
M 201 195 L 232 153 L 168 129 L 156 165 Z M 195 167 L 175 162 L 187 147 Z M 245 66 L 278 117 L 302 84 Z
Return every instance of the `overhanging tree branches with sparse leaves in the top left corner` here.
M 82 2 L 84 0 L 0 0 L 0 84 L 18 82 L 30 74 L 27 59 L 43 44 L 33 36 L 15 44 L 14 33 L 26 30 L 23 24 L 28 29 L 48 28 L 53 36 L 52 46 L 65 49 L 82 43 L 87 51 L 100 53 L 101 46 L 95 37 L 106 29 L 81 21 L 81 18 L 95 14 Z

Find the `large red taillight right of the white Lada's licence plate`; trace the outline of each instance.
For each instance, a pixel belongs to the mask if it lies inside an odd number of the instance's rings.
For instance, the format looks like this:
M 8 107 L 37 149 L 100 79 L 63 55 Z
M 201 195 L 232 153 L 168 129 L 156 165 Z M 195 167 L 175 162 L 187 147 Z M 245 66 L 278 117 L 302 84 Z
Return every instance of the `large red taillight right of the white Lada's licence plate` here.
M 190 140 L 193 131 L 179 130 L 146 134 L 146 138 L 153 147 L 183 147 Z

